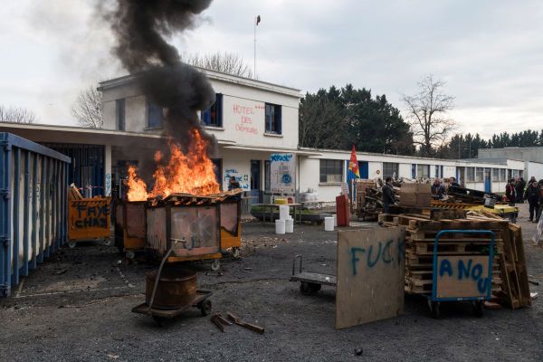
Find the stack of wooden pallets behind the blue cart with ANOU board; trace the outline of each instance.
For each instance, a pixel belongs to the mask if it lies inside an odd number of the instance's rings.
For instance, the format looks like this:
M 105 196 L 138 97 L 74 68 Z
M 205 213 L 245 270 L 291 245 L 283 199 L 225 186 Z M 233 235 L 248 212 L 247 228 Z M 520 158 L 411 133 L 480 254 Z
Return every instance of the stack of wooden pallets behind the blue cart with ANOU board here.
M 468 213 L 467 219 L 432 220 L 429 215 L 384 215 L 386 225 L 404 225 L 405 291 L 429 294 L 433 284 L 433 243 L 441 230 L 491 230 L 496 235 L 492 260 L 492 293 L 500 304 L 516 309 L 530 305 L 528 273 L 522 233 L 516 224 L 494 214 Z M 454 233 L 443 235 L 437 254 L 488 255 L 488 235 Z

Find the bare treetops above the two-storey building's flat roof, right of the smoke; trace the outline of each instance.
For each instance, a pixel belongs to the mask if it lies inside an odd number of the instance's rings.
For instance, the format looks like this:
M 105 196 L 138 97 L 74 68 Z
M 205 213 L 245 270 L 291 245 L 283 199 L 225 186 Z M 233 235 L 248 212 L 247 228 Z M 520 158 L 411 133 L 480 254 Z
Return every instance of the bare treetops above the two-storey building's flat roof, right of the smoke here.
M 237 75 L 239 77 L 251 78 L 251 67 L 238 54 L 232 52 L 215 52 L 213 54 L 184 54 L 183 62 L 196 67 L 209 69 L 211 71 L 222 71 L 224 73 Z

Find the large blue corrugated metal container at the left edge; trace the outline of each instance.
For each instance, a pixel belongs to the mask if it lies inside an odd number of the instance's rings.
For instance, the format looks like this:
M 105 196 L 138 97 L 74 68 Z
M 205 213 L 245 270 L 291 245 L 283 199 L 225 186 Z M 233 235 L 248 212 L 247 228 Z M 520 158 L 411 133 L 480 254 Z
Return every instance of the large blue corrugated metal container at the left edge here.
M 66 241 L 70 158 L 0 133 L 0 297 Z

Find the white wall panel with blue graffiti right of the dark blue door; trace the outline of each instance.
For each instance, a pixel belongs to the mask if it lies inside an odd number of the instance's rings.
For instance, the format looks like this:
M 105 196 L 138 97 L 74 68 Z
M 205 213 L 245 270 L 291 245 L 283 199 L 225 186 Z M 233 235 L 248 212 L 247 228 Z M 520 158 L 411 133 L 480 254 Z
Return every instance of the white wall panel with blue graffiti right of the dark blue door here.
M 294 194 L 296 192 L 296 157 L 292 153 L 274 153 L 270 156 L 271 192 Z

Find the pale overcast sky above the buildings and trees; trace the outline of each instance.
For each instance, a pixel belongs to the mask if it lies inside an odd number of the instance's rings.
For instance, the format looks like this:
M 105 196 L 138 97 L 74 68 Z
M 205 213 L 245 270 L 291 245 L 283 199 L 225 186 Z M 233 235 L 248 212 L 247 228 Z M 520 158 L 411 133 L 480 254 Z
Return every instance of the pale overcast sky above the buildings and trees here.
M 73 125 L 73 100 L 124 74 L 107 24 L 85 0 L 4 0 L 0 104 Z M 424 74 L 446 81 L 462 132 L 543 129 L 543 1 L 214 0 L 180 52 L 253 58 L 262 81 L 305 91 L 352 83 L 403 110 Z

